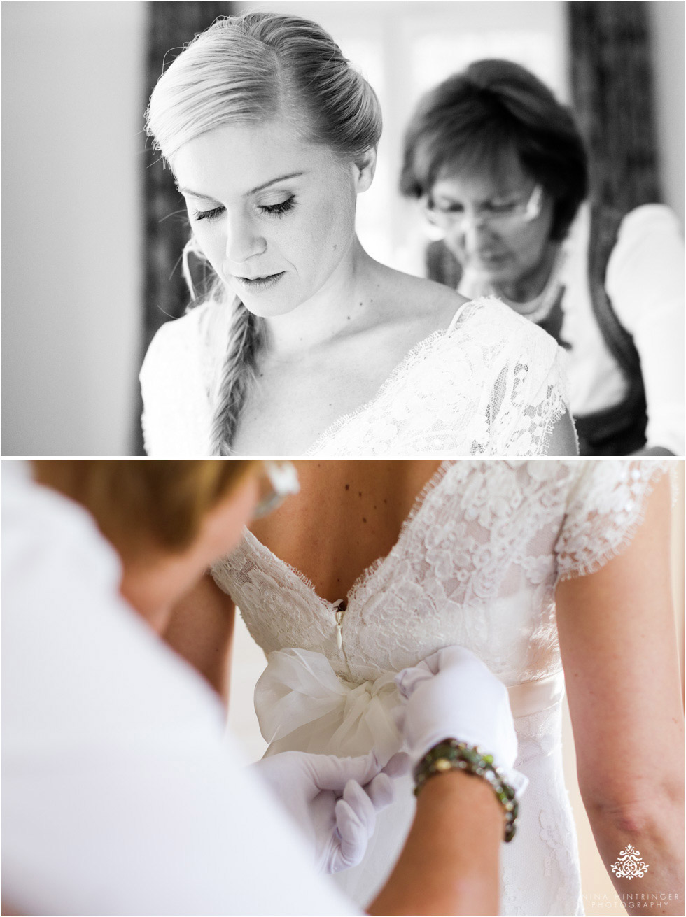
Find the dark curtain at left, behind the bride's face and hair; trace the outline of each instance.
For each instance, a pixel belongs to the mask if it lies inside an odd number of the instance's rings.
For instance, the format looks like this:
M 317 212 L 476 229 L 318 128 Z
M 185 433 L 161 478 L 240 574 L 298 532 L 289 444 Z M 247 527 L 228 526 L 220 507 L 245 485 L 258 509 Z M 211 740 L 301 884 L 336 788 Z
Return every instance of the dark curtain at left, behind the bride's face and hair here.
M 146 85 L 141 112 L 148 105 L 163 66 L 169 66 L 183 45 L 197 32 L 211 26 L 216 17 L 236 12 L 234 4 L 213 0 L 149 0 Z M 189 302 L 181 271 L 181 252 L 189 234 L 183 198 L 174 186 L 169 169 L 162 167 L 160 154 L 152 152 L 151 140 L 146 144 L 144 170 L 145 289 L 141 362 L 157 329 L 170 318 L 183 315 Z M 137 418 L 140 410 L 138 403 Z M 143 438 L 138 420 L 135 436 L 136 451 L 142 455 Z

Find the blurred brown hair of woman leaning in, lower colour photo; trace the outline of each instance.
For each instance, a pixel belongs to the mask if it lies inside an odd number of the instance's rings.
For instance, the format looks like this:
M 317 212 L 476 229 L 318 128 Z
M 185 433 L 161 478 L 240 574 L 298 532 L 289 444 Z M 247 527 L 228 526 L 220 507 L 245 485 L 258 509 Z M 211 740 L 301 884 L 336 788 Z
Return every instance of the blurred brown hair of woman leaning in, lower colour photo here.
M 238 459 L 33 462 L 37 480 L 81 503 L 125 559 L 150 547 L 190 547 L 205 515 L 258 465 Z

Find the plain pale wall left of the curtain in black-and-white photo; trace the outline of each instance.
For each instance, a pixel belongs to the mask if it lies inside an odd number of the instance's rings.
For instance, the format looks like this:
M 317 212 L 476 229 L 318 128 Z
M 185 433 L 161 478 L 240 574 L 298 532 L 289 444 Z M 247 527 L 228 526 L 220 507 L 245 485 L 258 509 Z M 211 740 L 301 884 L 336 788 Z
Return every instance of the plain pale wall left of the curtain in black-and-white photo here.
M 2 5 L 5 455 L 131 449 L 145 6 Z

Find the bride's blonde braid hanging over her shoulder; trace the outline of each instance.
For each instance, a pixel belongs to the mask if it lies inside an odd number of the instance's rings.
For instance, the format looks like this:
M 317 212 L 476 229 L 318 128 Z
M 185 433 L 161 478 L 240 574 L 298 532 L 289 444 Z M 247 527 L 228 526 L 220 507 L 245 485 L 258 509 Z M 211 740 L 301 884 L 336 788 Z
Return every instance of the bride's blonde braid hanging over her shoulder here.
M 236 433 L 238 417 L 245 404 L 250 383 L 254 379 L 262 337 L 262 319 L 249 312 L 237 300 L 228 329 L 227 355 L 219 377 L 215 415 L 212 419 L 212 455 L 233 454 L 231 440 Z

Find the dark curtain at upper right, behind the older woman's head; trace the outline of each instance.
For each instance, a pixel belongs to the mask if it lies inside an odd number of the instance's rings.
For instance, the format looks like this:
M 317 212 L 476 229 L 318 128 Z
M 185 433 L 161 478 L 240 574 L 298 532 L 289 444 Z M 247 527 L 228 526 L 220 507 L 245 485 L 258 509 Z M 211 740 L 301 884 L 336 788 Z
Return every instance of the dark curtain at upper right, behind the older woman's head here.
M 570 82 L 592 198 L 625 213 L 660 200 L 647 4 L 570 0 Z

